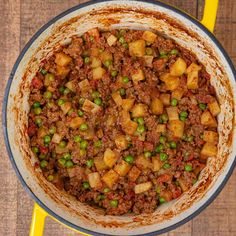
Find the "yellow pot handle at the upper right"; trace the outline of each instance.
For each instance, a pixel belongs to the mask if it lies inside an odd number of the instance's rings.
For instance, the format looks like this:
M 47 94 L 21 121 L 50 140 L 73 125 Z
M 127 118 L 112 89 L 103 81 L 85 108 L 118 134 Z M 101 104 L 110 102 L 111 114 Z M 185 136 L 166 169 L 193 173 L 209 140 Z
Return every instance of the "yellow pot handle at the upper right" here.
M 201 23 L 211 32 L 214 31 L 219 0 L 205 0 Z

